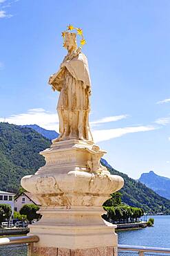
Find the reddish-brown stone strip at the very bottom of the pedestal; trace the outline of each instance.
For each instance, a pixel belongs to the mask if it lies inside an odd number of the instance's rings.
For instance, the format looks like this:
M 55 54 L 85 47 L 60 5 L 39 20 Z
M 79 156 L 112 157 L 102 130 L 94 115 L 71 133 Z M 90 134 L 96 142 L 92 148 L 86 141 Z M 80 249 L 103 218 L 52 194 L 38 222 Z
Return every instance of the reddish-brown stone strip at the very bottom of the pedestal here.
M 75 250 L 65 248 L 34 247 L 32 256 L 117 256 L 117 250 L 113 246 Z

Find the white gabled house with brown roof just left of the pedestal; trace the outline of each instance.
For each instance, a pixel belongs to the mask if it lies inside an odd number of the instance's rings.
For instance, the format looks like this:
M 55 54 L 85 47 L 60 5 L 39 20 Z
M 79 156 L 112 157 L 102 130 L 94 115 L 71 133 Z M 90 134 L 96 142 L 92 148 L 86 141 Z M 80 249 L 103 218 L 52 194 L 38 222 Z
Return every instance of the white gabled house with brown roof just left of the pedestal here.
M 32 196 L 31 193 L 23 192 L 14 200 L 14 211 L 19 212 L 23 205 L 32 203 L 34 203 L 34 205 L 41 205 L 41 203 L 39 203 L 39 201 Z

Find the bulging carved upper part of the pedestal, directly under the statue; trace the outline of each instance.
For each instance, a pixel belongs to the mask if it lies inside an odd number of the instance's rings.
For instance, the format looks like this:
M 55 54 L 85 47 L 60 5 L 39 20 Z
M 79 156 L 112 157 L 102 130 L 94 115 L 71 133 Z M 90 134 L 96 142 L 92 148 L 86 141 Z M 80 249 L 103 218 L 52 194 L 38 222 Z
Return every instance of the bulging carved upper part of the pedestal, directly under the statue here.
M 82 140 L 53 143 L 41 154 L 45 165 L 25 176 L 21 185 L 39 199 L 42 206 L 100 206 L 110 194 L 123 187 L 123 178 L 111 175 L 100 165 L 105 152 Z

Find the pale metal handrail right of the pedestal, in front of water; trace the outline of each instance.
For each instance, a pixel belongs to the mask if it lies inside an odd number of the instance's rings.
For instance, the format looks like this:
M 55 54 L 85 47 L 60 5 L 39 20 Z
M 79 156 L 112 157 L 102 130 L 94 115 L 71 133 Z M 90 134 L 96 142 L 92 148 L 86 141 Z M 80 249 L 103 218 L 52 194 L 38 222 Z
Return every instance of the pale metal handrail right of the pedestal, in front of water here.
M 147 247 L 147 246 L 129 246 L 125 244 L 118 244 L 118 250 L 131 250 L 141 253 L 152 252 L 152 253 L 170 253 L 170 248 L 160 247 Z

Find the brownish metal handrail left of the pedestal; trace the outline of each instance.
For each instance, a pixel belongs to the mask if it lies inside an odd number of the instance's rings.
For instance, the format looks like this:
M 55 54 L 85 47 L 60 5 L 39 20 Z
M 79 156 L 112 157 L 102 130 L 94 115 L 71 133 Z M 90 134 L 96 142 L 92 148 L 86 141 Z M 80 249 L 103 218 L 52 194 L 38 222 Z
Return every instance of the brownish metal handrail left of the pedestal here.
M 32 244 L 39 241 L 39 237 L 36 235 L 28 235 L 23 237 L 3 237 L 0 238 L 0 246 L 6 246 L 11 244 Z

